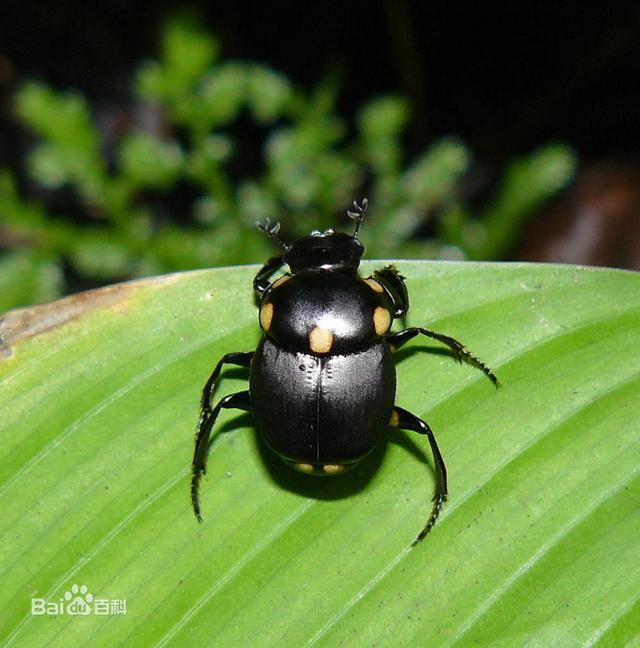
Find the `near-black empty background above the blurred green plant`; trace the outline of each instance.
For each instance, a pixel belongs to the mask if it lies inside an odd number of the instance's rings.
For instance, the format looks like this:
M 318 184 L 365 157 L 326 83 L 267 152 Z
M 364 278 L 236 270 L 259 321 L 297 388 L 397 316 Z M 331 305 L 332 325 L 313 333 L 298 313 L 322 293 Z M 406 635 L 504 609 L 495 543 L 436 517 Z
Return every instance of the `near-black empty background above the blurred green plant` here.
M 2 6 L 0 163 L 14 168 L 24 134 L 7 99 L 17 84 L 37 78 L 79 89 L 93 105 L 126 104 L 131 73 L 141 58 L 157 53 L 164 20 L 181 8 L 130 0 Z M 189 7 L 218 36 L 225 58 L 264 61 L 306 88 L 328 73 L 340 75 L 344 115 L 378 94 L 409 97 L 408 152 L 444 134 L 460 135 L 474 151 L 481 185 L 490 186 L 505 160 L 541 143 L 570 144 L 586 176 L 579 175 L 561 197 L 560 214 L 554 208 L 540 217 L 547 219 L 545 232 L 566 233 L 582 203 L 593 203 L 595 196 L 600 207 L 617 200 L 615 208 L 624 212 L 612 217 L 626 223 L 616 225 L 614 238 L 640 240 L 638 3 L 518 2 L 495 8 L 387 0 Z M 534 227 L 525 238 L 541 237 Z M 554 260 L 540 247 L 544 242 L 536 245 L 537 250 L 515 251 L 514 258 Z M 589 254 L 559 260 L 640 267 L 640 252 L 626 248 L 607 250 L 601 258 Z

